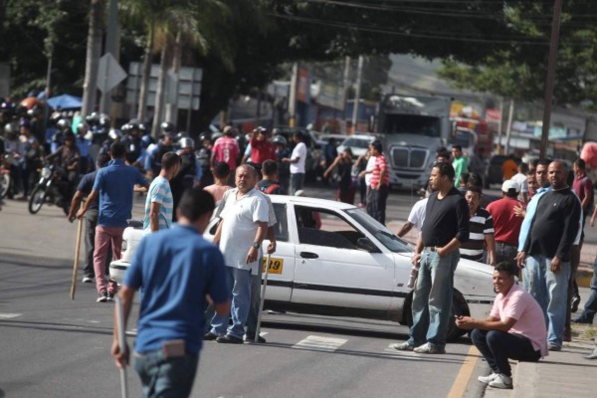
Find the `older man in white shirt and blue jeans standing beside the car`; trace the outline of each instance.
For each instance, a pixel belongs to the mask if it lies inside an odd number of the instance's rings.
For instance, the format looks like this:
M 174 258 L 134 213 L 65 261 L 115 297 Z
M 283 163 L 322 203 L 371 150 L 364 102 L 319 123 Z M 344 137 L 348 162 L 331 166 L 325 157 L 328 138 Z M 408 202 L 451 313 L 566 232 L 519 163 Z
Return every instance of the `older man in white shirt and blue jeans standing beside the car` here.
M 250 165 L 236 168 L 236 188 L 229 190 L 221 212 L 214 243 L 220 243 L 224 261 L 233 282 L 232 325 L 228 316 L 216 314 L 205 340 L 242 344 L 245 322 L 251 305 L 251 274 L 259 273 L 261 242 L 266 237 L 269 206 L 264 195 L 255 189 L 257 171 Z

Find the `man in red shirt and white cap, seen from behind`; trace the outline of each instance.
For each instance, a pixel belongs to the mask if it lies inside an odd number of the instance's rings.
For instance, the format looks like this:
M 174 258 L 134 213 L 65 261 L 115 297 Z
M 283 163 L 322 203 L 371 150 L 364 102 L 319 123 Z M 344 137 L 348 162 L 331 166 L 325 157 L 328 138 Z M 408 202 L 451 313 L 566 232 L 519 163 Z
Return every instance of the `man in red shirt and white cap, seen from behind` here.
M 522 206 L 518 193 L 521 188 L 516 181 L 506 180 L 501 185 L 503 198 L 487 205 L 493 218 L 494 240 L 496 241 L 496 263 L 516 261 L 518 236 L 524 217 L 516 215 L 514 208 Z

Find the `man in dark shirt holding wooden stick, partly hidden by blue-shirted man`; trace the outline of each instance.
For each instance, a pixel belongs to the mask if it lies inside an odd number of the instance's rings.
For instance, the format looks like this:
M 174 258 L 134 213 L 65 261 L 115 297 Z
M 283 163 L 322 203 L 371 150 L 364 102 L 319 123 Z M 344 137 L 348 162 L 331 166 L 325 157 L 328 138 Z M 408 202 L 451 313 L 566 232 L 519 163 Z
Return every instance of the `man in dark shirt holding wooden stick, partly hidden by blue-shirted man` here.
M 85 174 L 81 181 L 79 181 L 79 185 L 76 187 L 75 196 L 73 196 L 72 202 L 70 202 L 70 211 L 69 218 L 70 223 L 75 221 L 75 214 L 79 209 L 79 205 L 81 204 L 81 200 L 88 196 L 93 190 L 93 183 L 96 181 L 96 174 L 97 171 L 110 161 L 110 156 L 107 153 L 100 153 L 97 156 L 96 162 L 96 171 L 92 171 L 88 174 Z M 91 203 L 87 213 L 85 213 L 85 268 L 83 269 L 83 279 L 82 282 L 91 283 L 93 282 L 94 277 L 94 270 L 93 270 L 93 250 L 95 247 L 95 240 L 96 240 L 96 226 L 97 226 L 97 201 Z M 108 253 L 112 252 L 110 246 L 108 247 Z M 106 274 L 109 274 L 110 271 L 110 261 L 112 261 L 112 257 L 106 256 Z

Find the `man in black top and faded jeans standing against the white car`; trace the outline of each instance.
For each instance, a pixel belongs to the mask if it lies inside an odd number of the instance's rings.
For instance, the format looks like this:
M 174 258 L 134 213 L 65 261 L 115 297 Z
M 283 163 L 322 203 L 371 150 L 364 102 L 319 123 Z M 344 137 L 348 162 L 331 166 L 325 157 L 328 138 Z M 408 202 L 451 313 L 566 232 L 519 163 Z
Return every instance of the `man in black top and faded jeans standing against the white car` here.
M 450 163 L 435 163 L 431 171 L 429 183 L 434 192 L 427 200 L 412 260 L 413 266 L 418 266 L 411 306 L 413 327 L 408 341 L 393 345 L 396 350 L 445 353 L 458 248 L 469 239 L 469 207 L 454 188 L 454 174 Z

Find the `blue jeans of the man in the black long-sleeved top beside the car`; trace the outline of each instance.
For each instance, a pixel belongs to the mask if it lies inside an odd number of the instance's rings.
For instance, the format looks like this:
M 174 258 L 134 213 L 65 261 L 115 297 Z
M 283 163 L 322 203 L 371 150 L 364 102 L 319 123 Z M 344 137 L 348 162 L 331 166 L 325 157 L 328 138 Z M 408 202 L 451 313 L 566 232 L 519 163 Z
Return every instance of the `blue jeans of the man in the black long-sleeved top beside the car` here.
M 458 250 L 446 257 L 424 250 L 418 270 L 417 285 L 413 292 L 413 326 L 408 344 L 426 342 L 444 347 L 450 325 L 454 270 L 460 260 Z

